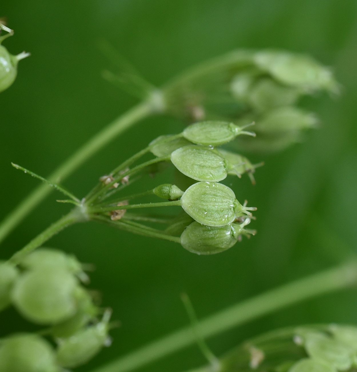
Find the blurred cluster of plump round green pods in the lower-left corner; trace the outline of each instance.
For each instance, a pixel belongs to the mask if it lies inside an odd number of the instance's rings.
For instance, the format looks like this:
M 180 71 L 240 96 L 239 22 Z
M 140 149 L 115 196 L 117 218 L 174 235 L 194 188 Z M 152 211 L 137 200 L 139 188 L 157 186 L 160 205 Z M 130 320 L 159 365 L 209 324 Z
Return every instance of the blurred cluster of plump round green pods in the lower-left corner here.
M 0 309 L 12 304 L 46 338 L 14 334 L 0 341 L 1 372 L 59 372 L 86 363 L 108 344 L 110 312 L 100 309 L 80 279 L 81 263 L 62 251 L 39 248 L 14 267 L 0 263 Z

